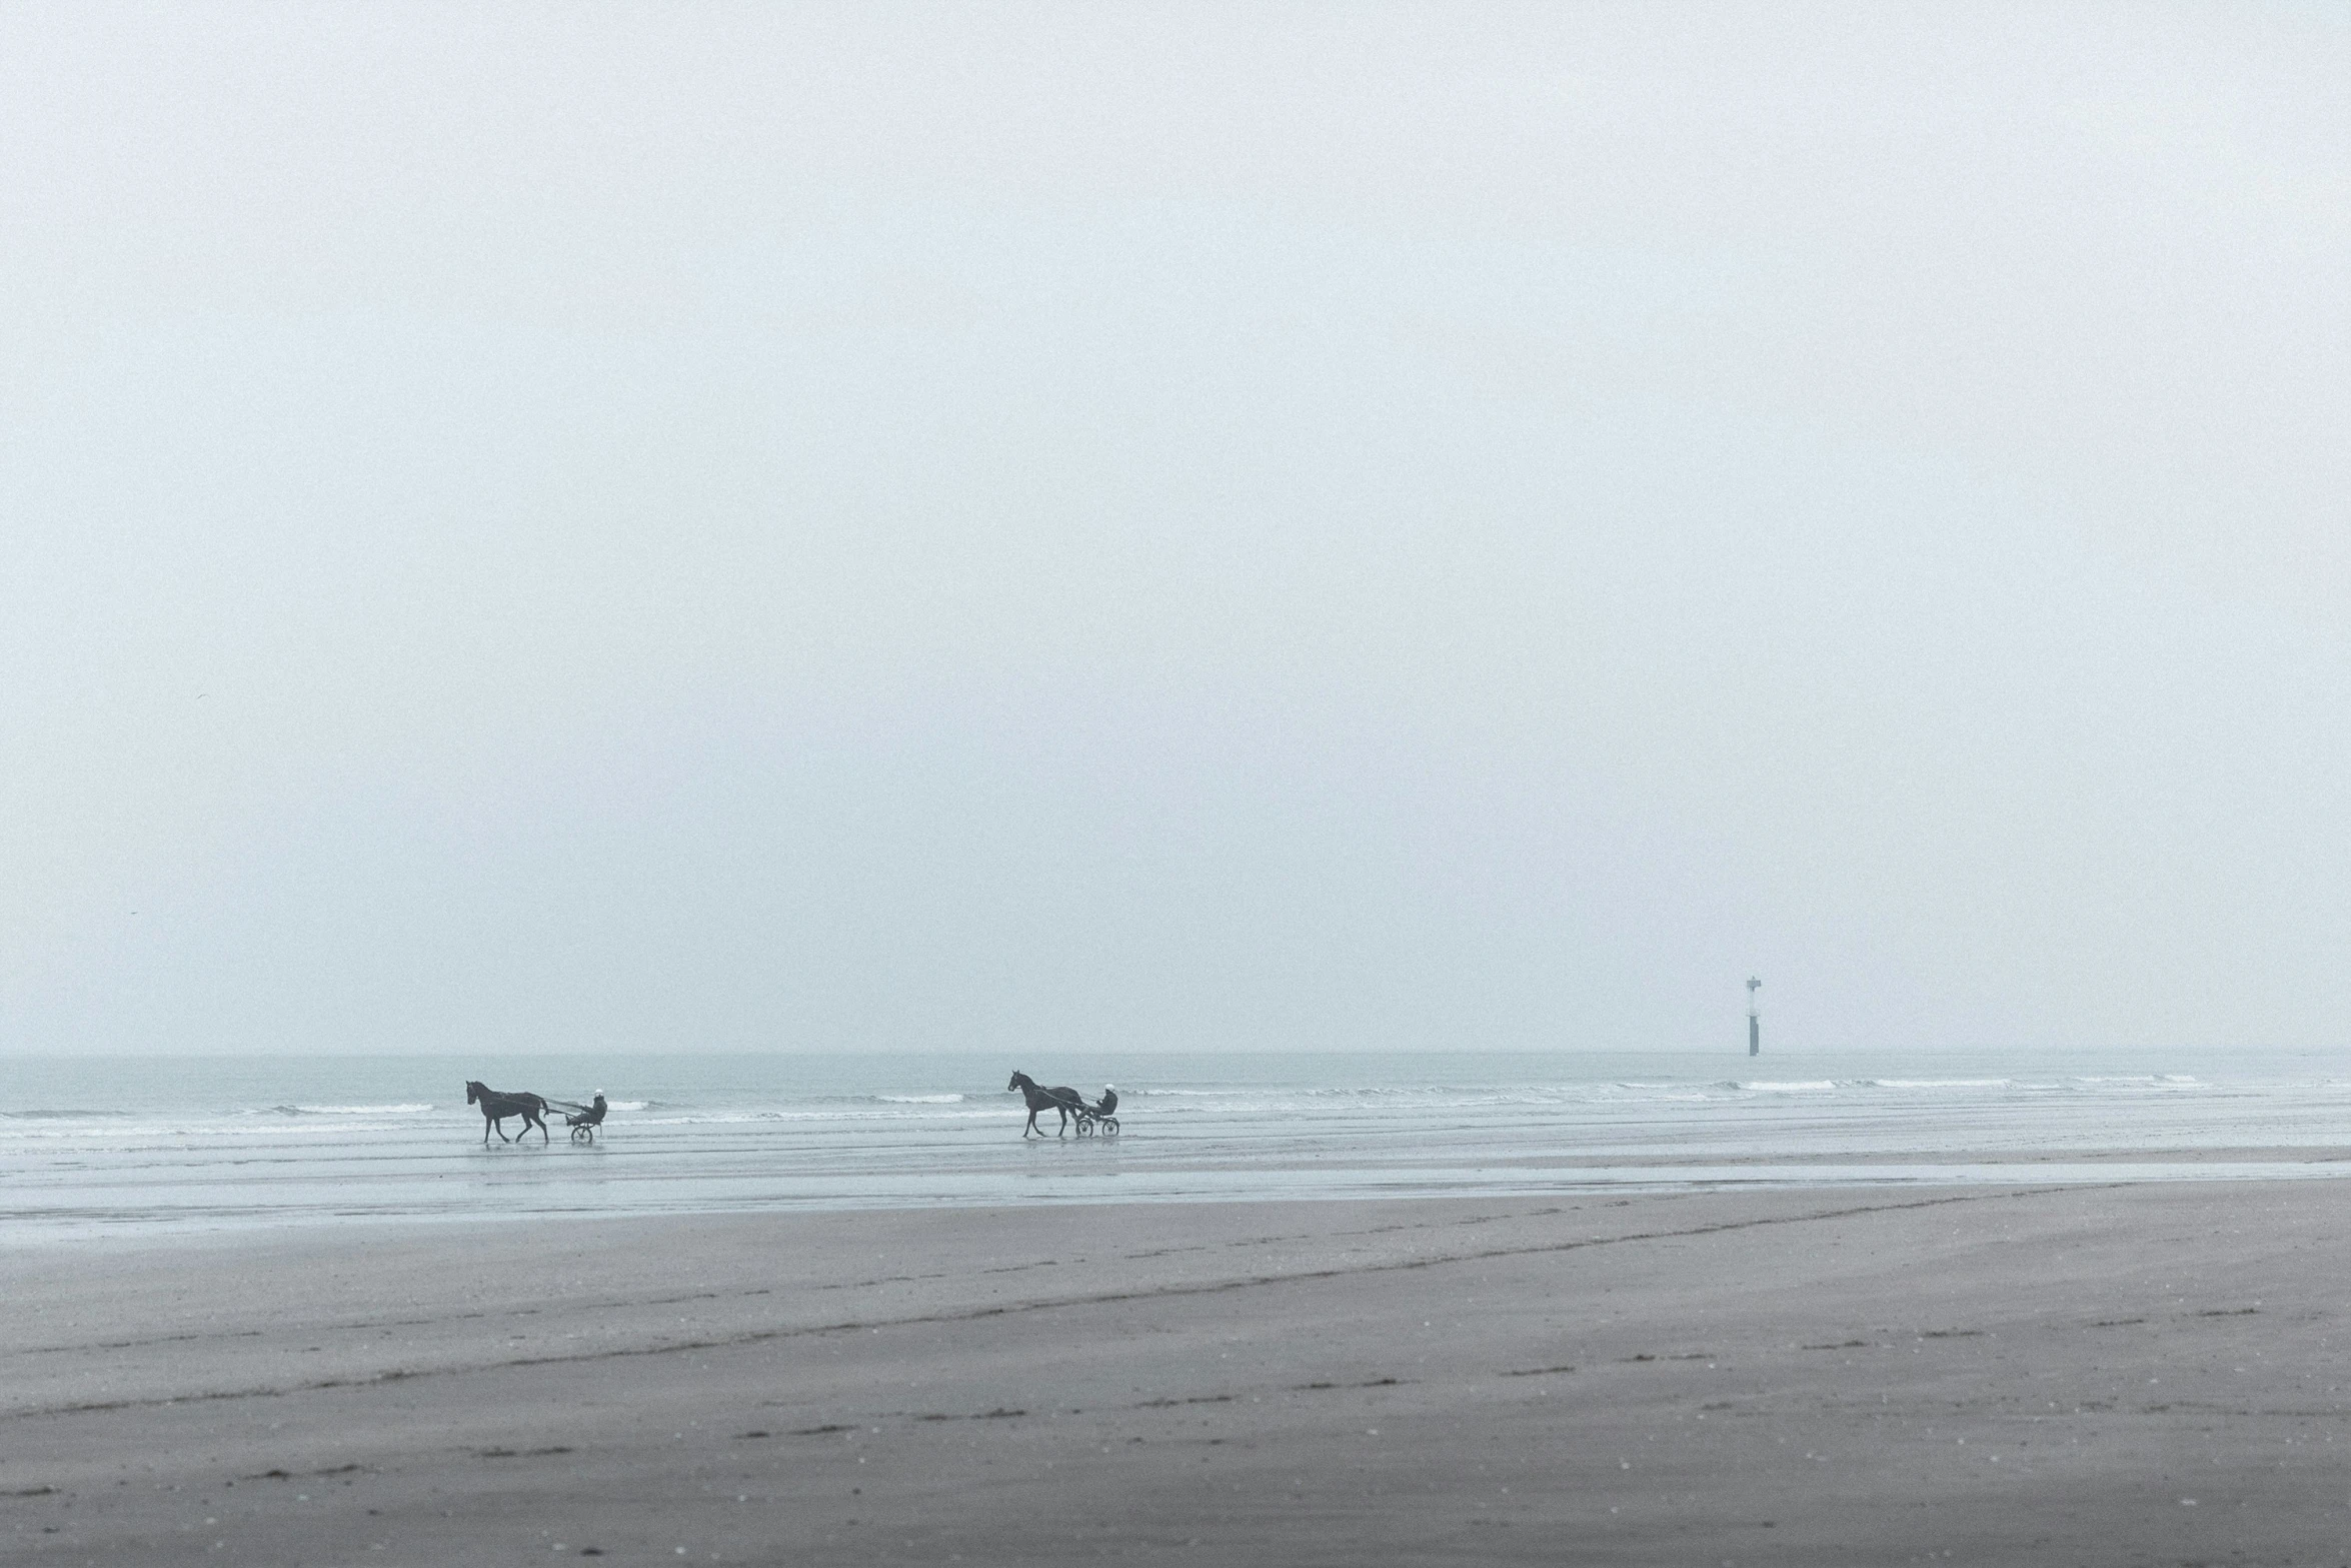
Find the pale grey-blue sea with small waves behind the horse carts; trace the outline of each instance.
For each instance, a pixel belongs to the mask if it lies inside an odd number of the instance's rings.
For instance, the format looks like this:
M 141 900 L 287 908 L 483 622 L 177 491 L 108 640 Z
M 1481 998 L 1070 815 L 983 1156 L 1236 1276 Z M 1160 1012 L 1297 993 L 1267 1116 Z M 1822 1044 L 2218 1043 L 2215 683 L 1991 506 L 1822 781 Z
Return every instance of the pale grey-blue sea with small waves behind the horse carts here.
M 1023 1140 L 1011 1067 L 1117 1138 Z M 517 1145 L 465 1079 L 585 1100 Z M 1044 1119 L 1053 1126 L 1053 1119 Z M 515 1131 L 517 1124 L 508 1124 Z M 0 1058 L 0 1244 L 371 1220 L 2351 1173 L 2285 1053 Z M 2020 1166 L 2017 1159 L 2029 1164 Z

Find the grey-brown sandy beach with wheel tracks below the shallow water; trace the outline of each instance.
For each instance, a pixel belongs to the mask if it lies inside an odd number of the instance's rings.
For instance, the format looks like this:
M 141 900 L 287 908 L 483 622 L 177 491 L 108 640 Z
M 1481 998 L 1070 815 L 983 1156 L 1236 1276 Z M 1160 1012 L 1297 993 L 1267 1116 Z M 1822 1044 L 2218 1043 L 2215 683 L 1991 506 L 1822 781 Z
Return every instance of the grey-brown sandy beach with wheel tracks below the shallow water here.
M 0 1554 L 2332 1563 L 2344 1204 L 1888 1187 L 26 1248 L 0 1253 Z

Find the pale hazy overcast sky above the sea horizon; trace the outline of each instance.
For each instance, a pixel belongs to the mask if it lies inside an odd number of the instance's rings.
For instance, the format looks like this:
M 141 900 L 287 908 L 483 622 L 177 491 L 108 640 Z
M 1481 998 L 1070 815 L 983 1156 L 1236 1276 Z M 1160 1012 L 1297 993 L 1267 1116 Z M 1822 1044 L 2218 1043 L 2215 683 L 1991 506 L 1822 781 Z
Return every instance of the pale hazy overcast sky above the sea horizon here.
M 2351 7 L 0 7 L 0 1051 L 2351 1044 Z

